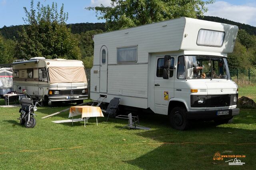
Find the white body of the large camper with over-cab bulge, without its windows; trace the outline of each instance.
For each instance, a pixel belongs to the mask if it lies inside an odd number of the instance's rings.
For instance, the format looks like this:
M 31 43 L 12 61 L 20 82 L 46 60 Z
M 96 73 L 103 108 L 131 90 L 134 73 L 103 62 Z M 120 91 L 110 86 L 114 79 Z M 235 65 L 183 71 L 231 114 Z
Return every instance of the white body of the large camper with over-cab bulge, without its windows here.
M 223 45 L 221 47 L 197 45 L 200 29 L 226 32 Z M 168 114 L 170 101 L 175 100 L 184 103 L 187 111 L 192 111 L 196 108 L 190 107 L 189 87 L 207 89 L 204 83 L 206 80 L 195 83 L 177 79 L 176 69 L 174 69 L 174 76 L 168 79 L 168 82 L 159 79 L 156 76 L 157 59 L 163 58 L 164 55 L 171 55 L 174 58 L 174 64 L 177 65 L 177 59 L 180 55 L 227 57 L 227 54 L 233 51 L 237 31 L 237 26 L 182 17 L 94 35 L 94 65 L 91 69 L 90 98 L 97 100 L 100 95 L 106 95 L 107 98 L 104 101 L 110 102 L 113 97 L 120 97 L 122 99 L 121 105 L 150 108 L 155 113 L 165 115 Z M 100 56 L 103 46 L 106 47 L 108 53 L 107 77 L 106 74 L 101 75 L 100 71 L 102 67 Z M 118 63 L 117 49 L 122 47 L 137 47 L 137 60 Z M 100 83 L 101 77 L 107 79 L 106 93 L 100 93 L 99 90 L 102 85 Z M 159 82 L 162 86 L 157 87 Z M 218 82 L 215 83 L 218 86 Z M 200 87 L 200 85 L 202 86 Z M 181 86 L 183 91 L 178 93 L 176 90 L 180 90 Z M 232 93 L 236 93 L 233 89 L 236 89 L 237 86 L 233 83 L 231 86 L 229 90 L 232 89 Z M 229 90 L 226 92 L 228 93 Z M 169 93 L 167 100 L 164 99 L 164 91 Z M 203 94 L 203 92 L 198 94 Z

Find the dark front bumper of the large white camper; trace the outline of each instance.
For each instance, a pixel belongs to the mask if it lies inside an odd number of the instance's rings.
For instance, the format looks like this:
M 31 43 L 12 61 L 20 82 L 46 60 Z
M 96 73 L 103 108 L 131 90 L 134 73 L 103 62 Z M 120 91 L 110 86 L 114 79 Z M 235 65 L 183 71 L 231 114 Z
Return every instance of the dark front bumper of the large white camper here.
M 229 111 L 228 115 L 217 115 L 218 111 Z M 240 109 L 227 109 L 227 110 L 215 110 L 215 111 L 200 111 L 200 112 L 186 112 L 187 119 L 196 120 L 214 120 L 214 119 L 229 119 L 239 114 Z

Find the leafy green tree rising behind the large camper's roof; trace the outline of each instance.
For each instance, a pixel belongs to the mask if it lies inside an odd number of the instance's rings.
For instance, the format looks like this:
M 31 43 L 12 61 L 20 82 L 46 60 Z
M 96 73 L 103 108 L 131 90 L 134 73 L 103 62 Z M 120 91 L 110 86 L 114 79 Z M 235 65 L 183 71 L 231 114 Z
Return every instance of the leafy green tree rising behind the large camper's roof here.
M 88 7 L 105 19 L 109 31 L 150 24 L 181 16 L 197 18 L 214 0 L 111 0 L 111 6 Z

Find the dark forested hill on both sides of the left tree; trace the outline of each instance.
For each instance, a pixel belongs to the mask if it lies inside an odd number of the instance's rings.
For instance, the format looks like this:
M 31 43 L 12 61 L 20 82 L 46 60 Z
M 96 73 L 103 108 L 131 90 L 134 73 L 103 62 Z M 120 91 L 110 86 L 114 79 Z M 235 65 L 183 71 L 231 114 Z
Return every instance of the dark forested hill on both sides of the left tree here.
M 26 25 L 25 25 L 26 27 Z M 71 32 L 73 34 L 81 34 L 82 32 L 90 31 L 90 30 L 102 30 L 106 31 L 105 23 L 78 23 L 78 24 L 67 24 L 68 28 L 71 28 Z M 22 25 L 19 26 L 10 26 L 0 28 L 0 33 L 7 39 L 14 39 L 14 37 L 18 40 L 18 31 L 22 30 Z

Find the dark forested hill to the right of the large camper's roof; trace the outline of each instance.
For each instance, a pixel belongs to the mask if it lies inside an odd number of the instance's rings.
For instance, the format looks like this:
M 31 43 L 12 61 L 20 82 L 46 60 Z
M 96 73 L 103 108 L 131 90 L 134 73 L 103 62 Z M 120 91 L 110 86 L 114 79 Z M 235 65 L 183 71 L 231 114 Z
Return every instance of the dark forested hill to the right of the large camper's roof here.
M 250 26 L 248 24 L 241 24 L 239 22 L 230 21 L 230 20 L 227 20 L 227 19 L 224 19 L 224 18 L 219 18 L 219 17 L 216 17 L 216 16 L 204 16 L 203 18 L 198 17 L 198 19 L 213 21 L 213 22 L 221 22 L 221 23 L 224 23 L 224 24 L 236 25 L 236 26 L 239 27 L 239 29 L 246 30 L 246 32 L 248 32 L 251 35 L 256 35 L 256 27 Z

